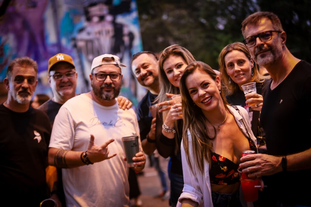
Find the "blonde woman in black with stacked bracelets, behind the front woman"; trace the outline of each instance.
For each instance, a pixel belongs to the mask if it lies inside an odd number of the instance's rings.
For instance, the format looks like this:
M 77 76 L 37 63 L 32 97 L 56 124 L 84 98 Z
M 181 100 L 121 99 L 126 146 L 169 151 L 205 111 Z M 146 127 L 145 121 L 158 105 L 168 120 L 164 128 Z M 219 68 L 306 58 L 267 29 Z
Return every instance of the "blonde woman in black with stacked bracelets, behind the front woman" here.
M 182 107 L 174 104 L 171 97 L 179 94 L 179 81 L 185 68 L 195 61 L 184 47 L 172 45 L 165 48 L 159 58 L 160 93 L 156 98 L 159 110 L 156 116 L 156 148 L 165 158 L 170 157 L 170 205 L 177 205 L 183 190 L 183 169 L 180 144 L 182 140 Z M 162 113 L 160 113 L 162 112 Z

